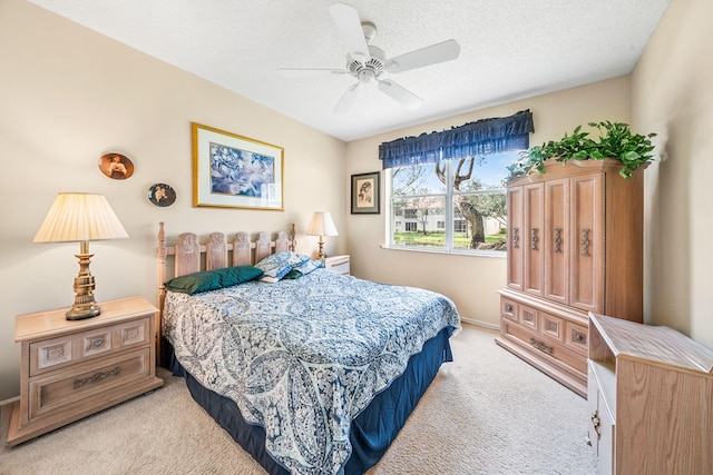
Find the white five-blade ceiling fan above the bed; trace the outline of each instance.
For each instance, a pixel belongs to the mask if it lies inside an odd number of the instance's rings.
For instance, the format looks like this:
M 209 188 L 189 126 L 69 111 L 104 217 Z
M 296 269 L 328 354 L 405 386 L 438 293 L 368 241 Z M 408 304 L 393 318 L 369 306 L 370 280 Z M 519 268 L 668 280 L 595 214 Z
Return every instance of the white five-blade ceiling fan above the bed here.
M 387 59 L 383 50 L 369 41 L 377 34 L 377 27 L 361 21 L 356 9 L 346 3 L 332 3 L 330 12 L 349 50 L 345 69 L 280 69 L 285 76 L 314 77 L 350 75 L 356 82 L 350 86 L 334 107 L 335 112 L 346 112 L 359 91 L 375 82 L 380 91 L 401 103 L 407 109 L 417 109 L 423 99 L 390 79 L 381 79 L 383 72 L 403 72 L 458 58 L 460 46 L 456 40 L 447 40 L 394 58 Z

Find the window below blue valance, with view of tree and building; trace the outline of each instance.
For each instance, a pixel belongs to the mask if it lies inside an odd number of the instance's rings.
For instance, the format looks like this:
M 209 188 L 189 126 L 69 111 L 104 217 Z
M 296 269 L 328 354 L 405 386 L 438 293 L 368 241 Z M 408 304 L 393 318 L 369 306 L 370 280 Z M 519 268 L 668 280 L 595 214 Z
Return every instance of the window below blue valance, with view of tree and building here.
M 505 251 L 507 166 L 518 151 L 389 169 L 393 247 Z

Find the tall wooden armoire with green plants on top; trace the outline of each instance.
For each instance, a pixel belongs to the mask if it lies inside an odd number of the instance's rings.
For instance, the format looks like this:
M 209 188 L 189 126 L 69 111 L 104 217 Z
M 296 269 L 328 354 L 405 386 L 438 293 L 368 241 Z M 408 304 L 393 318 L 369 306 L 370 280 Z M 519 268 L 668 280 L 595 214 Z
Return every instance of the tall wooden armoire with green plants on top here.
M 586 397 L 588 311 L 643 320 L 644 169 L 547 160 L 508 182 L 498 345 Z

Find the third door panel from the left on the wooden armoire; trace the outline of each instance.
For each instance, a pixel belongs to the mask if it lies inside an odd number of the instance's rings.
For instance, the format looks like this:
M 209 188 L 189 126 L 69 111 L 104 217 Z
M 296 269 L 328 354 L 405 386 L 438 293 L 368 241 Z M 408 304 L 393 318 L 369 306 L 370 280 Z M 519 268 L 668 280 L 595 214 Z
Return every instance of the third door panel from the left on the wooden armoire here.
M 545 182 L 545 297 L 569 300 L 569 179 Z

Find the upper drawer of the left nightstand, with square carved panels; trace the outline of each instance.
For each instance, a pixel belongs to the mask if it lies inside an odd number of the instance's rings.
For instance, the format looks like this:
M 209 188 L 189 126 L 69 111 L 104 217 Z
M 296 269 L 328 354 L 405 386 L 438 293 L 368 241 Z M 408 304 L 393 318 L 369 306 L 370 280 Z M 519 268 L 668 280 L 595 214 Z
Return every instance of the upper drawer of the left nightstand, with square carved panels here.
M 150 316 L 30 344 L 30 377 L 149 343 Z

